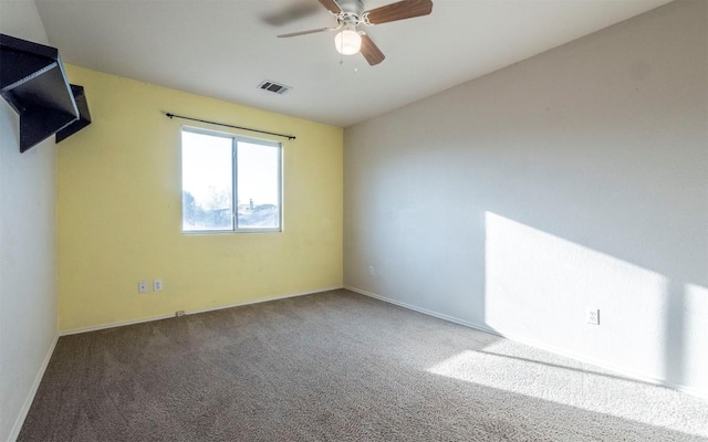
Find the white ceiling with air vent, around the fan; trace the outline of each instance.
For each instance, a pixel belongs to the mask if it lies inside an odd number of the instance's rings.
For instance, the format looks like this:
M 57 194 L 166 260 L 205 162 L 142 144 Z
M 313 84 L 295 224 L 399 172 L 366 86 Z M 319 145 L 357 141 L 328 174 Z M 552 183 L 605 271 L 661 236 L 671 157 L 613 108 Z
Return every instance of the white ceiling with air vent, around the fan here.
M 433 1 L 430 15 L 366 29 L 386 54 L 373 67 L 340 64 L 332 33 L 275 38 L 334 25 L 317 0 L 35 3 L 65 63 L 347 127 L 670 0 Z M 263 80 L 293 90 L 268 93 Z

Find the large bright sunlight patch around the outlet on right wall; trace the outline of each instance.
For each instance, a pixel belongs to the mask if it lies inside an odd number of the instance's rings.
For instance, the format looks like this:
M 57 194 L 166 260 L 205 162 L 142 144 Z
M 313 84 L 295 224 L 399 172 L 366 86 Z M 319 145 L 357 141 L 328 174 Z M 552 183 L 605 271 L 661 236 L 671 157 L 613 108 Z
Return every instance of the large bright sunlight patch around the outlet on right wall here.
M 491 212 L 485 248 L 488 326 L 664 378 L 666 276 Z

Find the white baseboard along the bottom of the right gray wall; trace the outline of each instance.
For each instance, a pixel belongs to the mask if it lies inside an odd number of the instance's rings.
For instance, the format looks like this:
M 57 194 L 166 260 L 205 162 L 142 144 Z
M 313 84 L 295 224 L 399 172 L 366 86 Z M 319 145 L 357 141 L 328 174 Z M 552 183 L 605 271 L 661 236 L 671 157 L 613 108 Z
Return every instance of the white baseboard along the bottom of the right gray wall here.
M 388 303 L 388 304 L 394 304 L 394 305 L 397 305 L 397 306 L 400 306 L 400 307 L 404 307 L 404 308 L 412 309 L 414 312 L 418 312 L 418 313 L 423 313 L 425 315 L 429 315 L 429 316 L 434 316 L 434 317 L 437 317 L 437 318 L 440 318 L 440 319 L 445 319 L 445 320 L 448 320 L 450 323 L 460 324 L 460 325 L 464 325 L 466 327 L 473 328 L 476 330 L 489 333 L 491 335 L 496 335 L 496 336 L 502 337 L 504 339 L 509 339 L 509 340 L 513 340 L 513 341 L 517 341 L 517 343 L 521 343 L 521 344 L 524 344 L 524 345 L 528 345 L 528 346 L 531 346 L 531 347 L 539 348 L 539 349 L 544 350 L 544 351 L 549 351 L 549 352 L 552 352 L 552 354 L 555 354 L 555 355 L 564 356 L 566 358 L 572 358 L 572 359 L 575 359 L 575 360 L 584 362 L 584 364 L 591 364 L 591 365 L 604 368 L 606 370 L 612 370 L 612 371 L 614 371 L 615 373 L 617 373 L 620 376 L 624 376 L 624 377 L 627 377 L 627 378 L 636 379 L 636 380 L 639 380 L 639 381 L 646 382 L 646 383 L 653 383 L 653 385 L 656 385 L 656 386 L 671 388 L 674 390 L 678 390 L 678 391 L 685 392 L 687 394 L 695 396 L 697 398 L 708 400 L 708 391 L 699 391 L 699 390 L 696 390 L 695 388 L 690 388 L 690 387 L 687 387 L 687 386 L 684 386 L 684 385 L 680 385 L 680 383 L 675 383 L 675 382 L 671 382 L 671 381 L 666 380 L 666 379 L 656 378 L 656 377 L 648 376 L 648 375 L 645 375 L 645 373 L 642 373 L 642 372 L 638 372 L 638 371 L 634 371 L 634 370 L 626 369 L 626 368 L 623 368 L 623 367 L 617 367 L 617 366 L 614 366 L 612 364 L 607 364 L 607 362 L 602 361 L 602 360 L 596 360 L 596 359 L 593 359 L 593 358 L 589 358 L 589 357 L 586 357 L 584 355 L 575 354 L 575 352 L 572 352 L 572 351 L 566 351 L 564 349 L 556 348 L 556 347 L 553 347 L 553 346 L 549 346 L 546 344 L 539 343 L 539 341 L 535 341 L 533 339 L 528 339 L 528 338 L 525 338 L 523 336 L 518 336 L 518 335 L 514 335 L 514 334 L 504 333 L 503 330 L 491 328 L 491 327 L 482 325 L 482 324 L 476 324 L 476 323 L 470 323 L 470 322 L 467 322 L 467 320 L 458 319 L 458 318 L 452 317 L 452 316 L 448 316 L 448 315 L 444 315 L 444 314 L 440 314 L 440 313 L 437 313 L 437 312 L 428 311 L 426 308 L 420 308 L 420 307 L 417 307 L 417 306 L 412 305 L 412 304 L 402 303 L 399 301 L 392 299 L 392 298 L 386 297 L 386 296 L 377 295 L 375 293 L 366 292 L 366 291 L 363 291 L 361 288 L 356 288 L 356 287 L 352 287 L 352 286 L 347 286 L 347 285 L 345 285 L 344 288 L 346 288 L 348 291 L 352 291 L 352 292 L 355 292 L 355 293 L 358 293 L 358 294 L 362 294 L 364 296 L 368 296 L 368 297 L 373 297 L 373 298 L 383 301 L 383 302 Z

